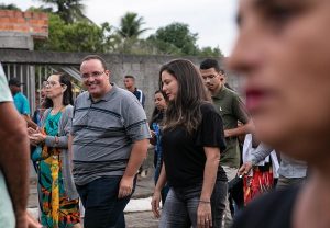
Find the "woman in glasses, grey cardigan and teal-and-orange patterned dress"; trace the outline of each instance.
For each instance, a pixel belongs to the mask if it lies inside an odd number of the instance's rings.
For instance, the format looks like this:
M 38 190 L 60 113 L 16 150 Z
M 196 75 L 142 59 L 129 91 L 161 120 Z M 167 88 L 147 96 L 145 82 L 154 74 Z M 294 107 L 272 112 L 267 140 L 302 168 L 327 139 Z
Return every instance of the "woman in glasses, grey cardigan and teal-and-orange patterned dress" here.
M 30 141 L 37 146 L 41 223 L 45 227 L 73 227 L 80 220 L 78 194 L 70 172 L 68 134 L 73 116 L 73 88 L 66 73 L 54 73 L 44 81 L 46 93 L 42 128 L 29 128 Z

